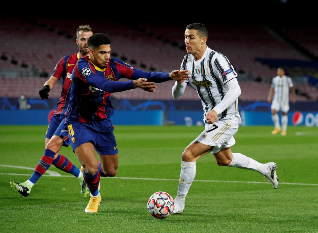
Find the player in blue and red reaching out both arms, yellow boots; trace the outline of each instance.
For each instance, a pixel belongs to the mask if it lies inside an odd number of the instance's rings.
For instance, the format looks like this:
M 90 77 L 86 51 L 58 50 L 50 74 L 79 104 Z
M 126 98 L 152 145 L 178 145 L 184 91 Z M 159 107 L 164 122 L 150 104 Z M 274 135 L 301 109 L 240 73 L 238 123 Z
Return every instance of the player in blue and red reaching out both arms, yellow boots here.
M 85 212 L 98 211 L 100 176 L 117 174 L 118 148 L 110 119 L 114 113 L 110 94 L 135 88 L 154 92 L 155 82 L 181 81 L 189 74 L 179 70 L 161 73 L 134 69 L 110 57 L 110 44 L 111 40 L 105 34 L 95 33 L 89 37 L 89 56 L 80 58 L 73 70 L 71 100 L 65 114 L 69 140 L 84 168 L 84 180 L 90 190 L 91 198 Z M 119 82 L 120 78 L 130 81 Z

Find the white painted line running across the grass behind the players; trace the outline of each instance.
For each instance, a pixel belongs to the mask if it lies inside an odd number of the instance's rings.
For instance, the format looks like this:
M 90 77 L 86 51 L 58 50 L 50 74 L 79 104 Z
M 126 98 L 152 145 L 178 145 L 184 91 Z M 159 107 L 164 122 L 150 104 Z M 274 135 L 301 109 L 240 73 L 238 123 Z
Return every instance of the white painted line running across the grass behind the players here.
M 12 167 L 12 168 L 20 168 L 20 169 L 27 169 L 27 170 L 34 170 L 34 168 L 30 167 L 21 167 L 21 166 L 11 166 L 11 165 L 0 165 L 0 167 Z M 51 177 L 74 177 L 73 175 L 61 175 L 54 171 L 46 171 L 42 176 L 51 176 Z M 17 173 L 0 173 L 0 175 L 19 175 L 19 176 L 31 176 L 32 174 L 17 174 Z M 157 180 L 157 181 L 179 181 L 178 179 L 159 179 L 159 178 L 136 178 L 136 177 L 100 177 L 100 178 L 107 178 L 107 179 L 127 179 L 127 180 Z M 211 182 L 211 183 L 250 183 L 250 184 L 270 184 L 270 182 L 258 182 L 258 181 L 230 181 L 230 180 L 194 180 L 194 182 Z M 288 183 L 288 182 L 281 182 L 281 184 L 287 185 L 308 185 L 308 186 L 318 186 L 318 184 L 304 184 L 304 183 Z

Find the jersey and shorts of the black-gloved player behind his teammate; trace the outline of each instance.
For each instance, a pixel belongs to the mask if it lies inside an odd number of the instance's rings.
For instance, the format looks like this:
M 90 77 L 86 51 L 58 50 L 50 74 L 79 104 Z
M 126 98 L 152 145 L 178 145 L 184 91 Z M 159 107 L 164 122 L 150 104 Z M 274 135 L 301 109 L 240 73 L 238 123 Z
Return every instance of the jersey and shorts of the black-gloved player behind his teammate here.
M 57 103 L 56 109 L 53 116 L 51 117 L 50 124 L 48 126 L 45 137 L 52 138 L 53 135 L 61 136 L 64 141 L 64 146 L 69 145 L 68 134 L 64 130 L 65 116 L 64 113 L 67 111 L 67 107 L 70 101 L 71 95 L 71 76 L 75 64 L 79 60 L 79 53 L 67 55 L 60 59 L 56 64 L 51 76 L 63 79 L 63 86 L 60 95 L 59 102 Z

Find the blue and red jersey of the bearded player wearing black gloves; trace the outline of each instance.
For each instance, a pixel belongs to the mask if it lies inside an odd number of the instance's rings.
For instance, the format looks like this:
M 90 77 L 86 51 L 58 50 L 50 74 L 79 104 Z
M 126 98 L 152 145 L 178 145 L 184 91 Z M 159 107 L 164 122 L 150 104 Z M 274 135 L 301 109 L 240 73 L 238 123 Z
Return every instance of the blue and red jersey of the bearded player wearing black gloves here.
M 56 110 L 54 114 L 65 113 L 68 108 L 71 95 L 71 76 L 75 64 L 79 60 L 79 53 L 64 56 L 56 64 L 51 76 L 58 79 L 63 79 L 63 86 L 60 95 L 59 102 L 57 103 Z

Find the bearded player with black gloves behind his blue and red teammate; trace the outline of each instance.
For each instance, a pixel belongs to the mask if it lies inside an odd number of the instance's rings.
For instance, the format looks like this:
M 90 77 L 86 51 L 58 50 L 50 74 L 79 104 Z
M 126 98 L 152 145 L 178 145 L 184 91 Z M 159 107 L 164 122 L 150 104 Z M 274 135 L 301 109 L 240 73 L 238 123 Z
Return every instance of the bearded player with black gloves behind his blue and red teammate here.
M 10 182 L 11 187 L 24 197 L 27 197 L 30 194 L 33 185 L 52 164 L 62 171 L 71 173 L 79 179 L 81 186 L 81 196 L 87 196 L 89 194 L 88 187 L 84 181 L 83 173 L 79 170 L 79 168 L 73 165 L 68 158 L 60 155 L 59 153 L 62 146 L 68 147 L 70 145 L 68 133 L 66 130 L 64 130 L 64 113 L 66 112 L 70 101 L 72 71 L 79 58 L 88 55 L 87 40 L 92 34 L 92 28 L 89 25 L 80 25 L 77 28 L 76 43 L 79 47 L 79 52 L 62 57 L 54 68 L 49 80 L 44 83 L 43 88 L 39 91 L 40 97 L 42 99 L 47 99 L 49 96 L 49 91 L 61 78 L 63 79 L 61 96 L 46 131 L 44 155 L 40 159 L 32 176 L 28 180 L 23 183 L 16 183 L 15 181 Z

